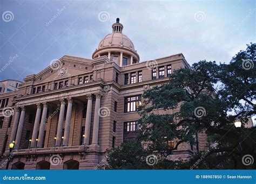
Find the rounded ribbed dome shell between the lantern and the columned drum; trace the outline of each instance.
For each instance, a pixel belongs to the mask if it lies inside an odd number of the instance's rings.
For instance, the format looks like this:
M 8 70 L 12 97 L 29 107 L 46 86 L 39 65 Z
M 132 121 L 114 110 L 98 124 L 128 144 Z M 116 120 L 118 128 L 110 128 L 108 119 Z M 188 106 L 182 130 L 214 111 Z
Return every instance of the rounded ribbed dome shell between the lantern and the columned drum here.
M 107 34 L 107 36 L 105 36 L 105 38 L 100 41 L 98 49 L 110 46 L 124 47 L 131 49 L 133 52 L 135 52 L 132 41 L 121 32 L 112 32 L 111 34 Z

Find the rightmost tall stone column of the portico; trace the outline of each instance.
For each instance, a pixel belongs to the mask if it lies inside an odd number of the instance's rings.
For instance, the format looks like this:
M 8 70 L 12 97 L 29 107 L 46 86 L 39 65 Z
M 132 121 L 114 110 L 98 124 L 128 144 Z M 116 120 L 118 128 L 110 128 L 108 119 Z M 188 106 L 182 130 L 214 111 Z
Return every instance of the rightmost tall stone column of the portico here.
M 92 144 L 98 144 L 99 135 L 99 108 L 100 108 L 100 98 L 102 94 L 96 93 L 95 111 L 94 111 L 94 121 L 93 121 L 93 132 L 92 132 Z

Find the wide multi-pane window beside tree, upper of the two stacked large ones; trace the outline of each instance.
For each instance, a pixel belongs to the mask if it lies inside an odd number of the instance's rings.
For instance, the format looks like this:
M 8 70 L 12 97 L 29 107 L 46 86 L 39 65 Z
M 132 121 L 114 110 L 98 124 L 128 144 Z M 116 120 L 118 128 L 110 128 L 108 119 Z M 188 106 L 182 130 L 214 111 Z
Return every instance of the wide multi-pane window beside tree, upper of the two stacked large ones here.
M 124 112 L 135 112 L 142 104 L 142 96 L 131 96 L 124 98 Z

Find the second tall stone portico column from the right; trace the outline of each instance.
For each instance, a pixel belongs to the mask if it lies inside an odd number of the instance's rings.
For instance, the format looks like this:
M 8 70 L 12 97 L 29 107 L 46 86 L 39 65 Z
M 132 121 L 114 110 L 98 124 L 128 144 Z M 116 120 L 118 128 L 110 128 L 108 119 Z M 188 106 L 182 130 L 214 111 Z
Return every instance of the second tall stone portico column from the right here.
M 84 129 L 84 144 L 89 144 L 90 140 L 90 130 L 91 130 L 91 117 L 92 117 L 92 94 L 87 96 L 87 110 L 85 119 L 85 129 Z

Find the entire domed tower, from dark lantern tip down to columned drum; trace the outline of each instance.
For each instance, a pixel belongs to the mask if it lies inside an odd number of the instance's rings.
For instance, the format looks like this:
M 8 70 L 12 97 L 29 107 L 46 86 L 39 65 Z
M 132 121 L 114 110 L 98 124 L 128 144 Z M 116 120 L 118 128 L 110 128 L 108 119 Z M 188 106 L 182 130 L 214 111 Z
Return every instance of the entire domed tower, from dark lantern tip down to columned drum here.
M 98 48 L 92 54 L 92 59 L 107 56 L 110 62 L 116 62 L 119 66 L 133 65 L 139 62 L 139 54 L 132 41 L 123 34 L 123 24 L 117 22 L 112 25 L 112 33 L 107 34 L 99 43 Z

